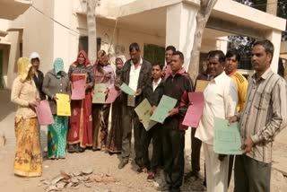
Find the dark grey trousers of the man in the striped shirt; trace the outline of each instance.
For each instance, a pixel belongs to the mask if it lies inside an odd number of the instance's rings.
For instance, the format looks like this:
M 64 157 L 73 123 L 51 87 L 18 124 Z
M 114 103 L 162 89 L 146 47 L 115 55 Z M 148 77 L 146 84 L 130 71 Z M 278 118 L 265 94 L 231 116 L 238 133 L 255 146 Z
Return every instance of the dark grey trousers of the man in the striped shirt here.
M 269 192 L 271 163 L 237 155 L 234 166 L 234 192 Z

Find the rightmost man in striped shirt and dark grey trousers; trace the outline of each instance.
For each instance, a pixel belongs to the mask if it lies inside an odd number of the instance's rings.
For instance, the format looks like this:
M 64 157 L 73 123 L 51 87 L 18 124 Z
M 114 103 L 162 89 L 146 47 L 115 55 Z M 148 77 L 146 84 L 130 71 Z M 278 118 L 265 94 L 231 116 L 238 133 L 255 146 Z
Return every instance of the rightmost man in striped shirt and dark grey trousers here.
M 270 191 L 274 136 L 287 126 L 287 84 L 270 68 L 273 55 L 272 42 L 255 42 L 251 64 L 256 73 L 248 79 L 245 108 L 230 118 L 239 121 L 244 153 L 235 160 L 235 192 Z

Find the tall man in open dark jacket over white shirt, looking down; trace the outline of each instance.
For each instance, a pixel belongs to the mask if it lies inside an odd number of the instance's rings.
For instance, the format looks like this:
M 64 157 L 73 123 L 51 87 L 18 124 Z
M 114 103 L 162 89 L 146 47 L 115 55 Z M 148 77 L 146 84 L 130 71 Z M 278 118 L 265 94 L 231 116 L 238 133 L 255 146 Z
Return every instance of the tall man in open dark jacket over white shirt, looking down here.
M 152 65 L 141 57 L 141 50 L 137 43 L 129 46 L 130 59 L 128 59 L 122 69 L 121 82 L 126 83 L 135 90 L 134 96 L 127 96 L 122 92 L 122 116 L 123 116 L 123 137 L 122 137 L 122 160 L 118 164 L 118 169 L 123 169 L 128 163 L 131 153 L 132 127 L 134 127 L 135 137 L 135 164 L 143 169 L 143 125 L 135 114 L 135 107 L 143 100 L 143 88 L 151 78 Z M 130 105 L 134 100 L 135 105 Z

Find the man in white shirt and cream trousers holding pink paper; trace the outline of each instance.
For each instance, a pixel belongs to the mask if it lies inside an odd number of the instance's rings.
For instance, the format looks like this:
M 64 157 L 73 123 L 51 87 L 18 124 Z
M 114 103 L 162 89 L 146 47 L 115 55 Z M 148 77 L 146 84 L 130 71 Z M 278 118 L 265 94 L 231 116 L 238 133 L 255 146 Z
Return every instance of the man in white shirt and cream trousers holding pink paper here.
M 196 130 L 196 137 L 204 146 L 207 192 L 225 192 L 228 188 L 229 158 L 213 152 L 213 118 L 229 118 L 235 114 L 238 92 L 235 83 L 224 73 L 223 52 L 211 51 L 208 61 L 213 80 L 204 90 L 204 112 Z

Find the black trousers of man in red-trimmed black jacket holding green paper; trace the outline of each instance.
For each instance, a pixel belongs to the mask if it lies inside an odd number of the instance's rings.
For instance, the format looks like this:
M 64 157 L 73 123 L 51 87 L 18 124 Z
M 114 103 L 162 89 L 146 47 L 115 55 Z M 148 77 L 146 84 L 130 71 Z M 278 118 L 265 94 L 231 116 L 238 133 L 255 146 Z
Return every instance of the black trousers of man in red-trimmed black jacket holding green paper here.
M 180 191 L 185 168 L 185 131 L 163 128 L 162 148 L 165 181 L 170 191 Z

